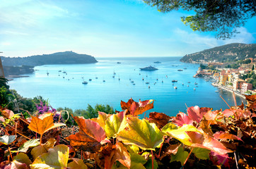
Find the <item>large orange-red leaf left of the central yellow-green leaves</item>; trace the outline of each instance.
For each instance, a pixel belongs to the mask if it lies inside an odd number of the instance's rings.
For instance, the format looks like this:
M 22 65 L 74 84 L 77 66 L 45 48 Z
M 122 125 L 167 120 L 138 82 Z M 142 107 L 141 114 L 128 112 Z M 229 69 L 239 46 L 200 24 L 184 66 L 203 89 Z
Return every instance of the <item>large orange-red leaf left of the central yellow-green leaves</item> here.
M 84 151 L 98 151 L 100 142 L 106 137 L 103 128 L 93 120 L 78 117 L 74 117 L 74 119 L 79 126 L 79 132 L 66 137 L 70 141 L 70 145 Z

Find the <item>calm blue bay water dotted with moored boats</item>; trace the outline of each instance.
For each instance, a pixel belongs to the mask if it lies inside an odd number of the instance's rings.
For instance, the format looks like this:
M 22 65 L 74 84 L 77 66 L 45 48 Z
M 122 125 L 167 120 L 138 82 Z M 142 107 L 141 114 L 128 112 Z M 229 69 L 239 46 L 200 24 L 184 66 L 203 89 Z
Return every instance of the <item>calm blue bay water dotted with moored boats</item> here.
M 154 100 L 154 108 L 146 115 L 156 111 L 173 116 L 186 112 L 190 106 L 213 110 L 234 106 L 233 93 L 212 86 L 212 82 L 204 78 L 194 78 L 199 65 L 182 63 L 180 58 L 96 58 L 98 63 L 40 65 L 34 68 L 33 74 L 28 74 L 29 77 L 14 78 L 8 84 L 23 97 L 42 96 L 53 108 L 73 110 L 86 109 L 88 104 L 108 104 L 122 111 L 120 101 L 127 102 L 130 98 Z M 156 61 L 161 63 L 154 63 Z M 140 70 L 149 65 L 158 70 Z M 242 101 L 246 103 L 238 96 L 235 98 L 238 105 Z

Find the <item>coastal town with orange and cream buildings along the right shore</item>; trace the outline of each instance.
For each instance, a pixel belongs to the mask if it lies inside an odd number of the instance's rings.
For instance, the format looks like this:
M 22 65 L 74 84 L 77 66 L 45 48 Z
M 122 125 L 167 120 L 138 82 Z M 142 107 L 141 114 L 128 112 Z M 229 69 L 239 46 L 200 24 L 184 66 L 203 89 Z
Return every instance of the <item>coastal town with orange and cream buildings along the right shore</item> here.
M 256 94 L 255 58 L 248 58 L 237 63 L 207 62 L 200 60 L 200 66 L 194 77 L 214 79 L 214 86 L 234 92 L 238 96 Z

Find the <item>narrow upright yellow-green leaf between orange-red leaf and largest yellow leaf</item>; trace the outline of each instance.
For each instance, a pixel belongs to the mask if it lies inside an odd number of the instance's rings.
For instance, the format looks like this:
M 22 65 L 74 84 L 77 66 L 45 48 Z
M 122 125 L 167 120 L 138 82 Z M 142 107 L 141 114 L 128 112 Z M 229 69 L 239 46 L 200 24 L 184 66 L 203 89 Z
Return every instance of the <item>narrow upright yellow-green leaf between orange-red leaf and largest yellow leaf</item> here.
M 111 115 L 105 122 L 105 132 L 108 138 L 115 136 L 120 130 L 124 130 L 124 123 L 122 121 L 125 117 L 125 112 L 122 111 L 118 114 Z M 121 127 L 123 126 L 123 127 Z

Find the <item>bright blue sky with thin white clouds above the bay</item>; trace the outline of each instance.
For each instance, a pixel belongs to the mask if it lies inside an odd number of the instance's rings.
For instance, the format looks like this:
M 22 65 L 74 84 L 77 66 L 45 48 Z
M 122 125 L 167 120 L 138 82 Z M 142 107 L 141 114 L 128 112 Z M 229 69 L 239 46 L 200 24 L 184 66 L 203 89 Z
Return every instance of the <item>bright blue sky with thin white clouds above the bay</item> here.
M 184 56 L 229 43 L 256 42 L 256 17 L 232 39 L 194 32 L 180 17 L 141 0 L 0 0 L 1 56 L 74 51 L 95 57 Z

